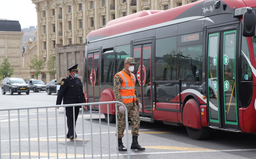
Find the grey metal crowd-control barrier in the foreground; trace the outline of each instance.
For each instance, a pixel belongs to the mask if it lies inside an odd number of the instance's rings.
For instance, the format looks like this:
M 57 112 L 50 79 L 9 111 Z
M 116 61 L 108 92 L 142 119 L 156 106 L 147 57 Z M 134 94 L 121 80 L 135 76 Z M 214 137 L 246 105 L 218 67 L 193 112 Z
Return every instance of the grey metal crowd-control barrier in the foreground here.
M 114 136 L 116 137 L 116 147 L 114 146 L 116 154 L 113 154 L 114 149 L 111 150 L 111 145 L 113 145 L 113 142 L 115 143 L 113 135 L 111 134 L 117 134 L 117 115 L 115 132 L 110 131 L 110 128 L 113 126 L 110 127 L 109 123 L 109 104 L 116 105 L 117 103 L 123 105 L 125 109 L 127 158 L 129 159 L 127 109 L 123 103 L 118 101 L 0 109 L 0 159 L 93 158 L 95 153 L 100 154 L 97 155 L 97 157 L 101 158 L 103 156 L 111 158 L 111 156 L 115 155 L 117 155 L 115 158 L 119 158 L 117 135 Z M 106 123 L 101 123 L 101 104 L 104 104 L 104 106 L 107 104 L 108 110 L 108 132 L 104 133 L 101 132 L 101 128 L 105 128 Z M 97 116 L 95 117 L 95 114 L 92 114 L 92 111 L 90 111 L 90 115 L 84 114 L 83 106 L 86 105 L 90 106 L 90 110 L 92 110 L 92 105 L 98 105 L 98 118 Z M 80 134 L 82 139 L 74 138 L 71 142 L 69 139 L 67 140 L 66 137 L 66 107 L 73 107 L 74 112 L 75 106 L 81 106 L 82 108 L 81 115 L 76 121 L 76 130 L 74 131 L 82 132 L 82 134 Z M 61 109 L 64 107 L 64 112 L 57 110 L 57 107 Z M 90 119 L 90 125 L 88 124 L 89 121 L 86 121 L 88 118 Z M 99 119 L 98 125 L 94 124 L 97 119 Z M 84 121 L 86 121 L 86 123 Z M 52 136 L 53 134 L 54 136 Z M 108 140 L 106 140 L 106 137 L 102 140 L 102 135 L 106 134 L 108 134 Z M 99 138 L 97 138 L 97 136 L 94 137 L 95 135 L 99 135 Z M 90 139 L 86 138 L 87 136 Z M 89 144 L 89 142 L 91 142 L 91 144 Z M 83 152 L 83 154 L 81 154 L 81 152 Z

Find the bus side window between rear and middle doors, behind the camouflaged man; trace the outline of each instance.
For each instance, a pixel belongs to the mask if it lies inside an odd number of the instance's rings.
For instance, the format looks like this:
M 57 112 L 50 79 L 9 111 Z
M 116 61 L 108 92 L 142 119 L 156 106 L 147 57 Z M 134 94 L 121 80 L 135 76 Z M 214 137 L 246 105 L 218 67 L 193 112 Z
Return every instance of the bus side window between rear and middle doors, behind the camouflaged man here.
M 116 52 L 104 53 L 101 57 L 101 82 L 113 82 L 114 75 L 123 70 L 124 59 L 130 57 L 130 44 L 116 46 Z

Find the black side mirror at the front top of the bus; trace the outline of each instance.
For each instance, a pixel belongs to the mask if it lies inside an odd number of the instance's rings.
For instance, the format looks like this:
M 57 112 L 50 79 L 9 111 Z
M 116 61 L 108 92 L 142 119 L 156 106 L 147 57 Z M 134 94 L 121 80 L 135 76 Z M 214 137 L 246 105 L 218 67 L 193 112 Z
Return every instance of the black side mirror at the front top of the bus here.
M 255 35 L 256 13 L 254 10 L 246 10 L 243 14 L 242 32 L 244 37 L 253 37 Z

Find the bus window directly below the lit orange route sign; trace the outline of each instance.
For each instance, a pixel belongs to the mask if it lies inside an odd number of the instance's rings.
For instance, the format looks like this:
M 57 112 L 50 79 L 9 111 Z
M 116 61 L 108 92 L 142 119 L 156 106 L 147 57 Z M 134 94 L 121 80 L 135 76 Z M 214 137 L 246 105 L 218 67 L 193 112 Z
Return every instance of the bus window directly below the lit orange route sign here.
M 202 81 L 203 46 L 189 45 L 177 48 L 176 76 L 181 81 Z

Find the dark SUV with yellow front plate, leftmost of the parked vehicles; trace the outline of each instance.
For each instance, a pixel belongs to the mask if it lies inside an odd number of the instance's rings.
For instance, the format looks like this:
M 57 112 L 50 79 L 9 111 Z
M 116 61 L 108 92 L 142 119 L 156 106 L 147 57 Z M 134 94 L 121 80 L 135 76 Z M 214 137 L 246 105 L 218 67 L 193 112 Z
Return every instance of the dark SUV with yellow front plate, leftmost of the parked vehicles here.
M 13 93 L 26 92 L 29 95 L 30 86 L 22 78 L 12 78 L 6 77 L 2 82 L 2 94 L 5 95 L 6 92 L 9 92 L 10 95 Z

